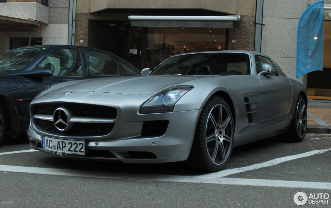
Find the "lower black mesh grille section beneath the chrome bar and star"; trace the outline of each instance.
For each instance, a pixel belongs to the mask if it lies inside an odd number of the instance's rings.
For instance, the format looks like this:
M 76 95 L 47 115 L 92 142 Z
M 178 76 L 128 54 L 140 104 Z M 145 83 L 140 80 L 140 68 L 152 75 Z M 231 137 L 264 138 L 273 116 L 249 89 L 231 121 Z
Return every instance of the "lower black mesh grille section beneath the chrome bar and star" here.
M 75 123 L 71 130 L 60 131 L 54 126 L 53 121 L 40 119 L 37 119 L 37 125 L 44 131 L 65 136 L 101 136 L 109 134 L 114 128 L 114 123 Z

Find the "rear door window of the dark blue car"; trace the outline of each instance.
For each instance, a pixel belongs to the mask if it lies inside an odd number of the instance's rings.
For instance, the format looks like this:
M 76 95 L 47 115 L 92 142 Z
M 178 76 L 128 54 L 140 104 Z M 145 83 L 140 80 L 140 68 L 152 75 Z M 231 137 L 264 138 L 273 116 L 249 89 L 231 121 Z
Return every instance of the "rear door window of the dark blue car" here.
M 107 54 L 86 50 L 90 75 L 119 75 L 119 69 L 114 60 Z

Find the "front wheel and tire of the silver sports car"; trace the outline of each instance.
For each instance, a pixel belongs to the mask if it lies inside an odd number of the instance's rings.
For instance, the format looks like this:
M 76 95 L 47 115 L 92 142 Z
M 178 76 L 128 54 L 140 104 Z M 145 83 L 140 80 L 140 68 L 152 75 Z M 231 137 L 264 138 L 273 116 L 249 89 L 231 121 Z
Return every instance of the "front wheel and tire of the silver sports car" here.
M 203 171 L 222 170 L 230 159 L 233 137 L 230 107 L 223 98 L 211 97 L 199 117 L 188 162 Z

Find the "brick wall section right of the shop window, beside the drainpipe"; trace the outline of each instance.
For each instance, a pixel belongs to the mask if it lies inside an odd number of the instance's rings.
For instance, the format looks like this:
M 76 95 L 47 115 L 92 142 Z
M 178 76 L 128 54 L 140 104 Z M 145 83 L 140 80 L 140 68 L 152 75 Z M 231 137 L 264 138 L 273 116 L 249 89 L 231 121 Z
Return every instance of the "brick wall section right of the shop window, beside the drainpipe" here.
M 255 15 L 241 15 L 240 21 L 233 22 L 233 28 L 229 29 L 229 50 L 254 51 L 254 39 Z

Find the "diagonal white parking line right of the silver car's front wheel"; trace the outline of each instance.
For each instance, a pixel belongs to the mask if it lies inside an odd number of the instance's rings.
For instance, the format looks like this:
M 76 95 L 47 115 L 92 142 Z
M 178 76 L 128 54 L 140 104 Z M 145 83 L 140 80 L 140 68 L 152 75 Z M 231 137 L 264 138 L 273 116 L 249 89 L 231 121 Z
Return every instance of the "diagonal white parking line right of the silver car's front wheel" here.
M 241 168 L 226 169 L 226 170 L 222 170 L 222 171 L 219 171 L 219 172 L 210 173 L 210 174 L 206 174 L 206 175 L 202 175 L 202 176 L 198 176 L 198 177 L 202 178 L 202 179 L 220 178 L 220 177 L 229 176 L 229 175 L 236 174 L 236 173 L 241 173 L 241 172 L 245 172 L 245 171 L 251 171 L 251 170 L 256 170 L 256 169 L 260 169 L 260 168 L 265 168 L 265 167 L 277 165 L 279 163 L 283 163 L 283 162 L 290 161 L 290 160 L 295 160 L 295 159 L 298 159 L 298 158 L 303 158 L 303 157 L 308 157 L 308 156 L 311 156 L 311 155 L 321 154 L 323 152 L 330 151 L 330 150 L 331 150 L 331 148 L 330 149 L 313 150 L 313 151 L 301 153 L 301 154 L 298 154 L 298 155 L 291 155 L 291 156 L 276 158 L 276 159 L 269 160 L 269 161 L 266 161 L 266 162 L 263 162 L 263 163 L 258 163 L 258 164 L 254 164 L 254 165 L 250 165 L 250 166 L 241 167 Z

